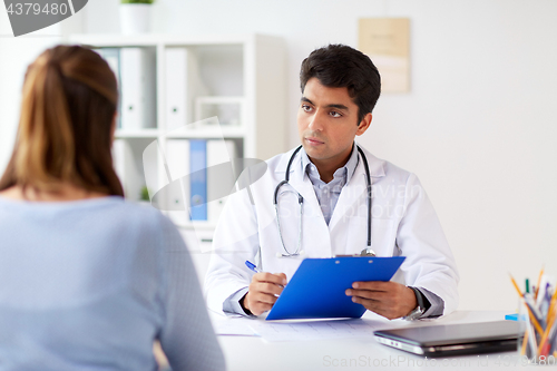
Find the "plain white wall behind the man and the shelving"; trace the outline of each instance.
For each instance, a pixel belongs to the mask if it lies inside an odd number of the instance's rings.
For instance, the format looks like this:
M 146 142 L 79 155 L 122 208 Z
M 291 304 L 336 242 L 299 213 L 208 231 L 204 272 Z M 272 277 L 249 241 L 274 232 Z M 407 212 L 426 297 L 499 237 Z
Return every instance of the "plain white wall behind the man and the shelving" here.
M 116 3 L 89 1 L 87 30 L 118 31 Z M 536 281 L 545 264 L 557 275 L 554 0 L 158 0 L 155 16 L 162 33 L 282 36 L 292 146 L 302 59 L 329 42 L 356 46 L 359 18 L 410 18 L 411 92 L 383 95 L 360 143 L 428 189 L 460 267 L 461 310 L 514 311 L 508 273 Z M 0 88 L 10 82 L 0 90 L 0 168 L 20 79 L 6 52 L 0 43 Z

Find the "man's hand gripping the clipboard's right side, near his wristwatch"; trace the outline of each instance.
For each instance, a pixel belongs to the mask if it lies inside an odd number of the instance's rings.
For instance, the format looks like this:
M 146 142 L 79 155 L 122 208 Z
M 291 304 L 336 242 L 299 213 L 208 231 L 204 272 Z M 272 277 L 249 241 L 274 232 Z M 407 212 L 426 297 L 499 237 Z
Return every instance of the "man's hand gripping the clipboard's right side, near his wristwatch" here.
M 408 315 L 418 305 L 413 290 L 398 282 L 354 282 L 346 295 L 389 320 Z

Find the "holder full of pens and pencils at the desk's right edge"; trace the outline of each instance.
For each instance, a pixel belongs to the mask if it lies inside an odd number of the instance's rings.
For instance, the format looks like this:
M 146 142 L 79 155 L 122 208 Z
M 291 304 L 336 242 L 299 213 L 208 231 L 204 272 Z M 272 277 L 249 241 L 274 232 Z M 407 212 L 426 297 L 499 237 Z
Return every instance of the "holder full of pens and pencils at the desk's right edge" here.
M 524 365 L 556 365 L 555 322 L 551 321 L 550 316 L 548 320 L 543 316 L 540 319 L 534 301 L 527 295 L 519 299 L 519 309 L 518 320 L 524 323 L 518 336 L 518 353 L 521 363 Z

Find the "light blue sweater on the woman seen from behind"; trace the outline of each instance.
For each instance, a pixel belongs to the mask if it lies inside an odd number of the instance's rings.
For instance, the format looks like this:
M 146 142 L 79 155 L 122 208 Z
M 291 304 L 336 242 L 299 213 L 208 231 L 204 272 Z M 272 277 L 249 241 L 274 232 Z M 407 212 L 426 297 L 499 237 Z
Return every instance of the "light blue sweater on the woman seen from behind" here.
M 222 370 L 189 253 L 158 211 L 0 197 L 0 370 Z

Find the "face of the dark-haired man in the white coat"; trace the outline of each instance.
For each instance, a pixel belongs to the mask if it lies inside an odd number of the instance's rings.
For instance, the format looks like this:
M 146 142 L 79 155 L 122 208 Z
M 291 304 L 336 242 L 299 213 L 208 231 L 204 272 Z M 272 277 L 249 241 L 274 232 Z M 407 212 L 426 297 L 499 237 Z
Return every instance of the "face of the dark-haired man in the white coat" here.
M 344 166 L 356 135 L 365 133 L 371 114 L 358 123 L 358 106 L 348 88 L 330 88 L 311 78 L 297 111 L 300 140 L 315 165 Z

